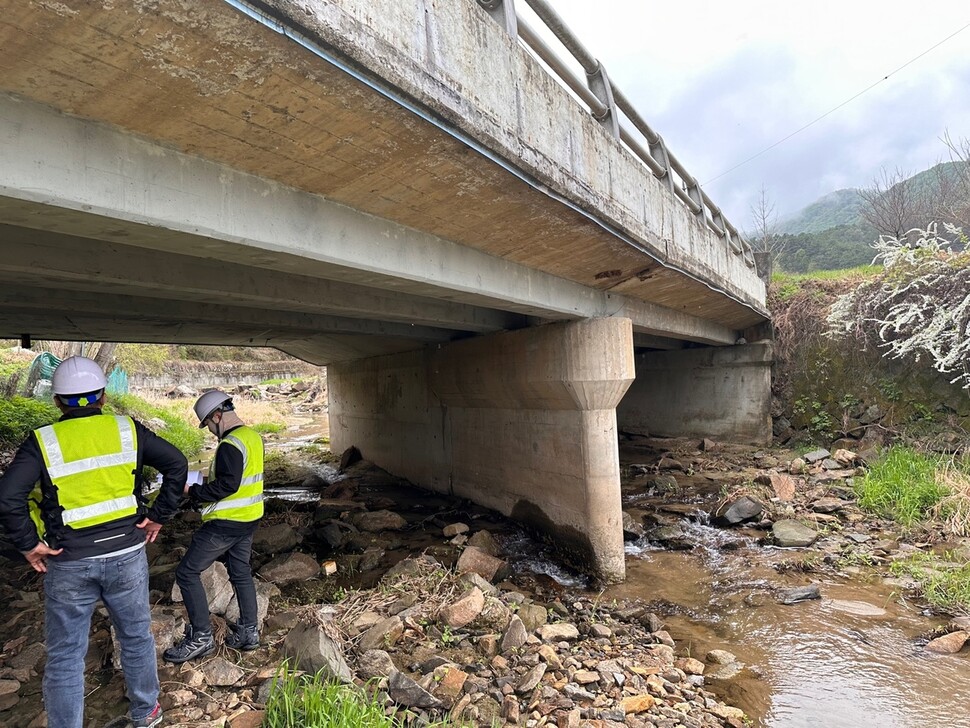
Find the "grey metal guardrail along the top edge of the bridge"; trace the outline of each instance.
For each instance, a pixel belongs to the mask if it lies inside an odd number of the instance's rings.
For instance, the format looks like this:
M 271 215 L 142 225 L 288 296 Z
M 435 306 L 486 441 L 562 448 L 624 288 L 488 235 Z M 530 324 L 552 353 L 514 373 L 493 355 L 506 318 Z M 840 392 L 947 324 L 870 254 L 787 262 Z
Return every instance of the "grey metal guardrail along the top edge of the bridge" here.
M 742 256 L 747 266 L 754 268 L 755 260 L 751 245 L 741 237 L 737 228 L 728 222 L 721 209 L 701 189 L 697 179 L 667 149 L 663 137 L 644 121 L 630 100 L 610 82 L 603 64 L 586 50 L 547 0 L 525 0 L 525 2 L 579 63 L 586 73 L 585 79 L 581 79 L 574 73 L 556 51 L 515 12 L 514 2 L 515 0 L 478 0 L 479 5 L 513 38 L 517 38 L 552 69 L 559 80 L 589 107 L 593 118 L 615 138 L 622 141 L 626 148 L 643 162 L 694 215 L 713 230 L 735 255 Z M 626 128 L 621 113 L 637 133 L 631 133 Z

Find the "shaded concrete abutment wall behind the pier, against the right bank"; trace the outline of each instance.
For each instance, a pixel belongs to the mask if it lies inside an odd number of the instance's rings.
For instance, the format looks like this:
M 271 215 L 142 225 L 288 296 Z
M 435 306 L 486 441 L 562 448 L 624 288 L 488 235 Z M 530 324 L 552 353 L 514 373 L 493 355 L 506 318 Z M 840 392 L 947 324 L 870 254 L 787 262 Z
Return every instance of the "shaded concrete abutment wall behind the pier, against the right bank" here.
M 771 346 L 647 352 L 636 356 L 636 381 L 616 410 L 624 432 L 771 439 Z

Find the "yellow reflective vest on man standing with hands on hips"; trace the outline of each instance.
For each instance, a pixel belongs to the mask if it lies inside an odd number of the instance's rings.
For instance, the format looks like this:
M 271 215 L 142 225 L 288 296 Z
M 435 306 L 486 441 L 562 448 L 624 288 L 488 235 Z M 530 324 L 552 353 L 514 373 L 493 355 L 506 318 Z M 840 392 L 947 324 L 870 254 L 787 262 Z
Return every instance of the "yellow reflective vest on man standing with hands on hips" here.
M 130 417 L 76 417 L 34 430 L 34 436 L 65 526 L 98 526 L 138 512 L 138 439 Z

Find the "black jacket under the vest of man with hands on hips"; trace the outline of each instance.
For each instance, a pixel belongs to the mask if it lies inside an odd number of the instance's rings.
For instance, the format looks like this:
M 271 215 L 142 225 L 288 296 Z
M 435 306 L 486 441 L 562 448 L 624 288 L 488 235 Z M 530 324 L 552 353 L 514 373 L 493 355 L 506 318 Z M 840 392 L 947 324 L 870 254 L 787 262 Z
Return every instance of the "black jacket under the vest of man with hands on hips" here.
M 91 417 L 101 414 L 100 409 L 85 407 L 69 410 L 61 421 L 75 417 Z M 120 551 L 145 540 L 145 532 L 136 528 L 146 516 L 156 523 L 165 523 L 178 511 L 179 499 L 188 475 L 185 456 L 167 440 L 135 421 L 135 437 L 138 443 L 138 462 L 134 474 L 140 473 L 142 465 L 149 465 L 162 474 L 162 488 L 149 508 L 139 508 L 138 514 L 119 518 L 88 528 L 74 529 L 55 523 L 51 518 L 54 510 L 55 491 L 50 475 L 44 465 L 37 439 L 31 434 L 14 455 L 7 472 L 0 478 L 0 524 L 3 524 L 13 545 L 20 551 L 30 551 L 37 545 L 37 529 L 30 520 L 27 499 L 34 485 L 41 484 L 41 513 L 47 528 L 45 540 L 51 548 L 63 548 L 55 556 L 57 560 L 73 561 L 90 556 Z M 135 494 L 140 496 L 140 483 L 134 483 Z

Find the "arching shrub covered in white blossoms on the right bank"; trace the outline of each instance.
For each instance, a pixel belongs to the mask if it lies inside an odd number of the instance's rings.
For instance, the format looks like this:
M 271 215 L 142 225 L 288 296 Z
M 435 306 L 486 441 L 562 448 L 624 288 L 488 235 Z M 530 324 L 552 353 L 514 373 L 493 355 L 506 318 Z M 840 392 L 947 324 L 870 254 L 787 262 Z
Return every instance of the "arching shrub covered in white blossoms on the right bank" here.
M 945 229 L 966 244 L 960 229 Z M 885 272 L 836 300 L 830 335 L 864 339 L 891 358 L 926 361 L 970 389 L 970 253 L 939 237 L 936 225 L 880 237 L 873 248 Z

